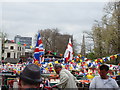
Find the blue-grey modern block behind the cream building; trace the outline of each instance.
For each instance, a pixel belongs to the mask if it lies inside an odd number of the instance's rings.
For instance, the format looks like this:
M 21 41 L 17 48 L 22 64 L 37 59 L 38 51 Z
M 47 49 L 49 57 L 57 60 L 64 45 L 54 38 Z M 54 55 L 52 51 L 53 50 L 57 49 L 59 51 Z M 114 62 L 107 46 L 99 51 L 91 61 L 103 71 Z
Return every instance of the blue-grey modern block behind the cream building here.
M 20 43 L 25 46 L 25 49 L 30 49 L 32 46 L 32 37 L 21 37 L 20 35 L 16 35 L 14 38 L 15 43 Z

